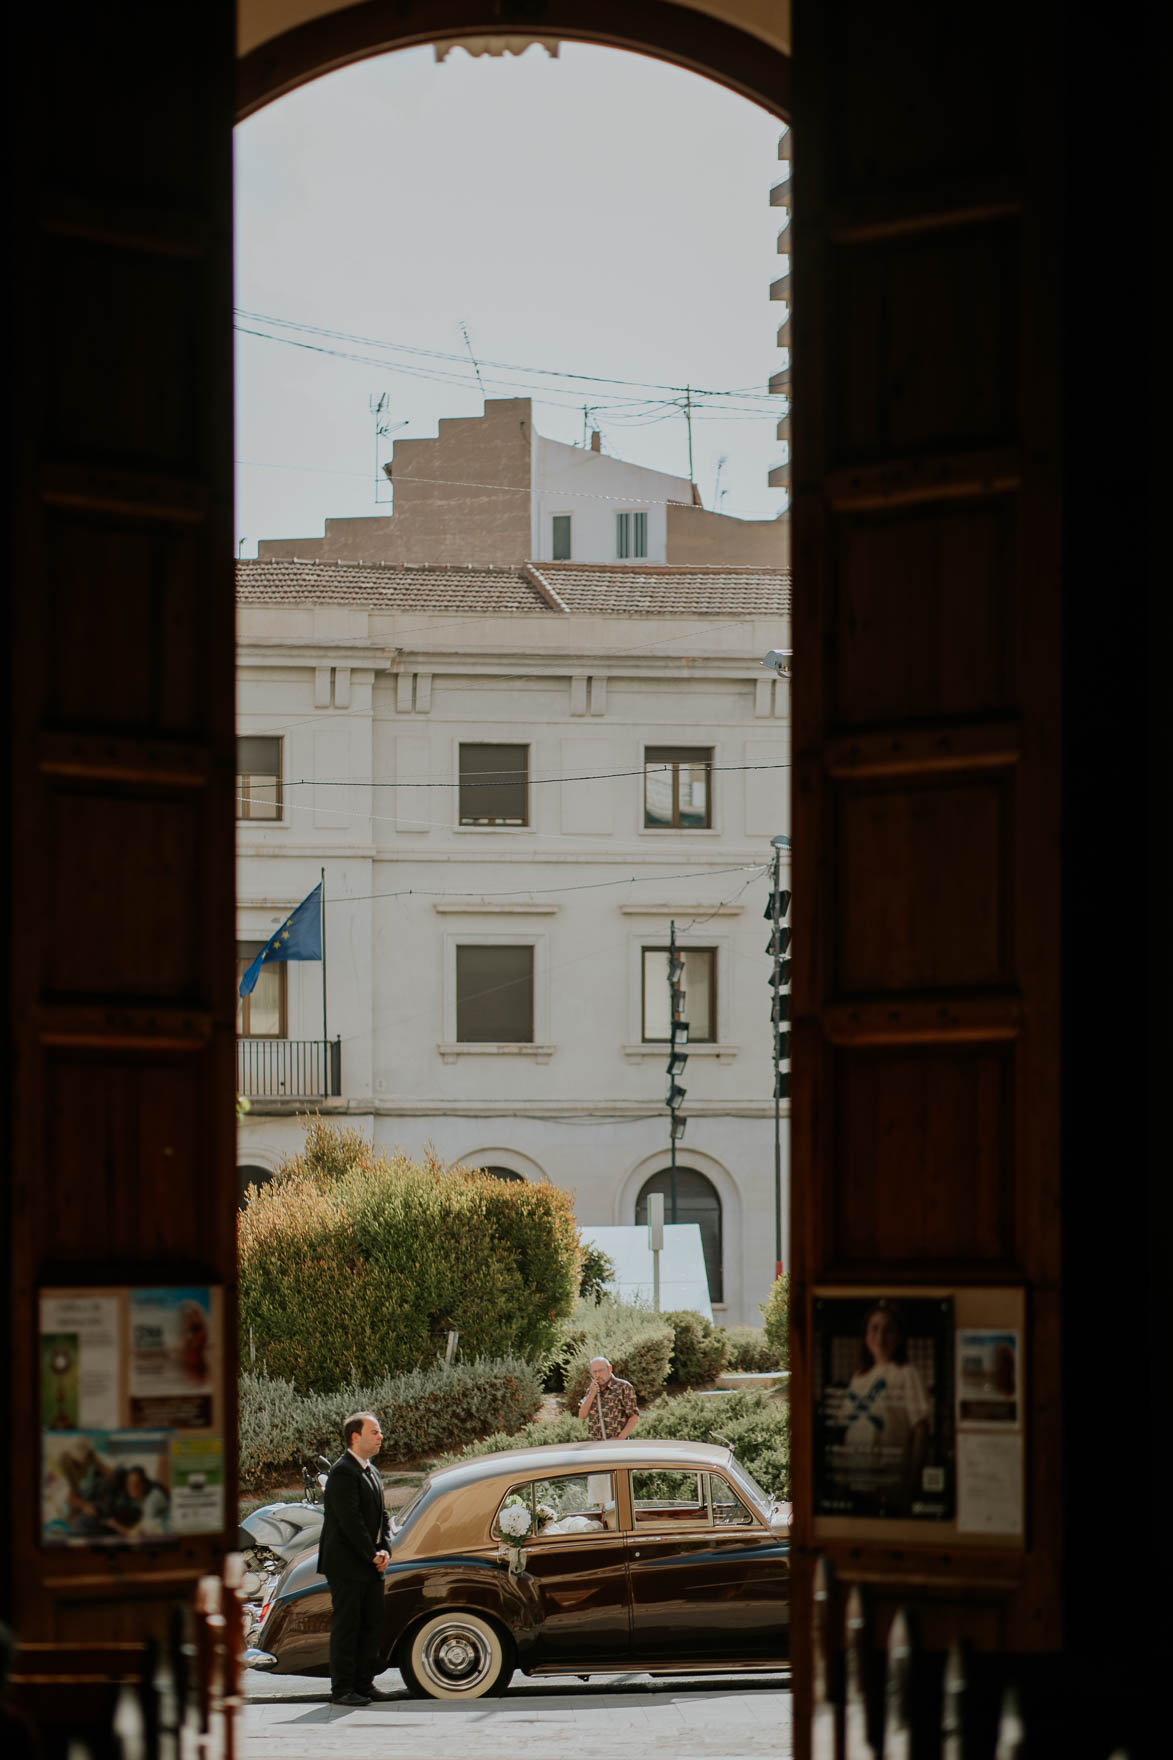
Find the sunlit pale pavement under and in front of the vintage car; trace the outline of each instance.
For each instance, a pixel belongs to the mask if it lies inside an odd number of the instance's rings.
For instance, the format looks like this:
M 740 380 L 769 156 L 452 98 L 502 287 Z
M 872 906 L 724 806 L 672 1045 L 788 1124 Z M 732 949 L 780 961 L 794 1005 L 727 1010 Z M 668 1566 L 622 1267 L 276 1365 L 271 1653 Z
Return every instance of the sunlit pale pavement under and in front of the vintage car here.
M 786 1760 L 791 1693 L 784 1674 L 518 1674 L 500 1698 L 467 1705 L 395 1698 L 345 1711 L 321 1681 L 248 1674 L 238 1725 L 241 1760 Z

